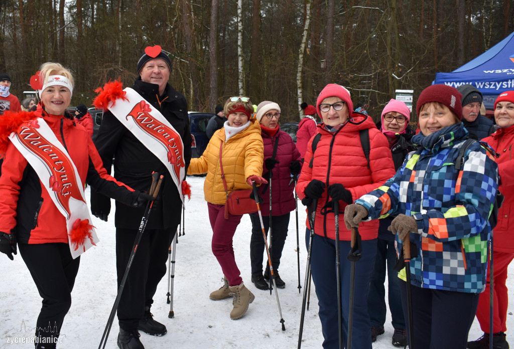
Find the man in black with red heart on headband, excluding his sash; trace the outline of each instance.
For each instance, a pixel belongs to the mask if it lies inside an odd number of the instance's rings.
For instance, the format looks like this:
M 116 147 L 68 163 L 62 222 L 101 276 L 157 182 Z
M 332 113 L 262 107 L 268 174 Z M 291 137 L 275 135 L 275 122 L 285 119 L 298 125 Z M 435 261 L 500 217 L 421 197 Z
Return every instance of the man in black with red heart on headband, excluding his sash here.
M 160 46 L 147 47 L 139 59 L 137 71 L 139 76 L 132 88 L 160 111 L 180 134 L 187 173 L 191 161 L 188 105 L 184 96 L 168 84 L 171 61 L 161 51 Z M 143 349 L 138 330 L 154 336 L 167 333 L 166 326 L 152 319 L 150 307 L 157 285 L 166 274 L 168 247 L 180 222 L 182 202 L 170 172 L 162 163 L 166 159 L 157 158 L 111 111 L 106 111 L 103 115 L 95 145 L 105 168 L 110 169 L 114 164 L 114 177 L 133 189 L 148 190 L 152 171 L 164 175 L 159 196 L 147 221 L 118 306 L 118 346 L 122 349 Z M 110 210 L 109 198 L 92 191 L 91 212 L 107 221 Z M 144 207 L 133 208 L 116 202 L 118 287 L 143 214 Z

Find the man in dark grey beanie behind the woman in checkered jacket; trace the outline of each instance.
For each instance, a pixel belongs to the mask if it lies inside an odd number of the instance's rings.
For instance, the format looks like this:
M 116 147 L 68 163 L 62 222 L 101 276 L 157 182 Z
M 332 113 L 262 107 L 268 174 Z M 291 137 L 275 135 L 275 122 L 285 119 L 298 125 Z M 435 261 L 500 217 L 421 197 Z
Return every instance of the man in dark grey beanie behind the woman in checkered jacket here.
M 457 87 L 462 93 L 462 123 L 469 132 L 469 138 L 481 140 L 489 137 L 496 128 L 493 122 L 480 114 L 482 93 L 470 84 Z

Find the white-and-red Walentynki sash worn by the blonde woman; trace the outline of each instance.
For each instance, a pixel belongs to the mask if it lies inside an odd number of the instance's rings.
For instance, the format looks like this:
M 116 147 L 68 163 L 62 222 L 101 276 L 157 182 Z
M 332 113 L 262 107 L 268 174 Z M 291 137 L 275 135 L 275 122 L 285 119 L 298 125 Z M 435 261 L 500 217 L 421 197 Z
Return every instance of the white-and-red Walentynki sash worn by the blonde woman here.
M 66 219 L 71 256 L 77 258 L 99 241 L 89 224 L 84 186 L 75 164 L 42 119 L 22 124 L 9 139 L 38 174 L 52 202 Z

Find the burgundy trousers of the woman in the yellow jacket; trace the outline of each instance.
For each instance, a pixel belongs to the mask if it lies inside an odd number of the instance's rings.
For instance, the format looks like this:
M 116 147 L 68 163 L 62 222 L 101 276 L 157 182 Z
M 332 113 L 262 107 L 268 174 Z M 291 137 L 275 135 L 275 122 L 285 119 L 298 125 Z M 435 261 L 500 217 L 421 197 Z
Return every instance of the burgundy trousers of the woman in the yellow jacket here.
M 212 253 L 222 267 L 223 274 L 230 286 L 237 286 L 243 282 L 241 272 L 235 263 L 234 246 L 232 238 L 235 229 L 243 216 L 228 214 L 225 219 L 225 205 L 207 203 L 209 208 L 209 220 L 212 227 Z

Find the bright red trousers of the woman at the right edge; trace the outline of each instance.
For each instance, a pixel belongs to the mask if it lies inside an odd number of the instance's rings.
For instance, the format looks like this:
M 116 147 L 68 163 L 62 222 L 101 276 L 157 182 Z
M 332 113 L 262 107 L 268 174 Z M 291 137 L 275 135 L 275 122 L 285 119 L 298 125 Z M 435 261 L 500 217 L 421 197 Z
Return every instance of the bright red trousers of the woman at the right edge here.
M 514 259 L 514 254 L 494 251 L 492 261 L 492 282 L 493 282 L 493 301 L 492 301 L 492 333 L 505 332 L 507 326 L 507 306 L 509 303 L 507 286 L 507 267 Z M 485 333 L 489 333 L 489 268 L 487 265 L 486 286 L 484 292 L 480 294 L 479 307 L 476 310 L 476 318 L 479 320 L 480 328 Z

